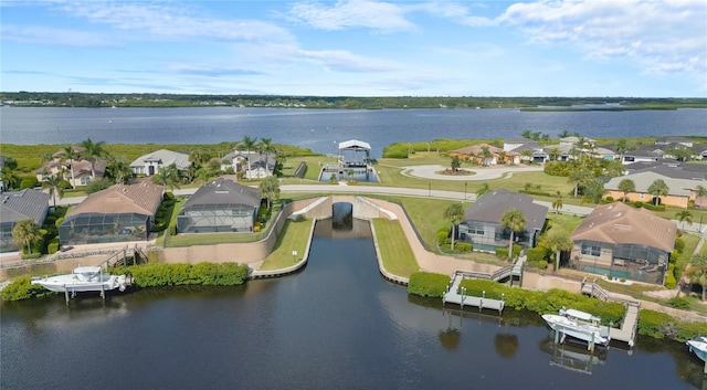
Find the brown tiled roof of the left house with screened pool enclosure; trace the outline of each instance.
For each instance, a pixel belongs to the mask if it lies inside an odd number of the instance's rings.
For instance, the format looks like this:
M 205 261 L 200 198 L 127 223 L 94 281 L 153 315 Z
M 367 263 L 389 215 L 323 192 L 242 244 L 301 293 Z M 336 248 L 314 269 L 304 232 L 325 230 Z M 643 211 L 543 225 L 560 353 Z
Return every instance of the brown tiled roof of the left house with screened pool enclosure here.
M 96 212 L 101 214 L 138 213 L 155 215 L 162 201 L 162 186 L 143 181 L 138 185 L 116 185 L 89 194 L 66 217 Z

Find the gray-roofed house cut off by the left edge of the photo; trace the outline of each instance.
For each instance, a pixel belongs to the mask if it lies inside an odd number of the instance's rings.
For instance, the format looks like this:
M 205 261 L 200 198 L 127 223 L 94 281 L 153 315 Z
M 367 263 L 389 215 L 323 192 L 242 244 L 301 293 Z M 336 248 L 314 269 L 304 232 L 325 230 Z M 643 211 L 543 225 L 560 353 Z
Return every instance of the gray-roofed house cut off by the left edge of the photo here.
M 31 219 L 38 228 L 44 223 L 49 199 L 48 193 L 30 188 L 21 191 L 0 191 L 0 253 L 19 250 L 12 242 L 12 229 L 19 221 Z

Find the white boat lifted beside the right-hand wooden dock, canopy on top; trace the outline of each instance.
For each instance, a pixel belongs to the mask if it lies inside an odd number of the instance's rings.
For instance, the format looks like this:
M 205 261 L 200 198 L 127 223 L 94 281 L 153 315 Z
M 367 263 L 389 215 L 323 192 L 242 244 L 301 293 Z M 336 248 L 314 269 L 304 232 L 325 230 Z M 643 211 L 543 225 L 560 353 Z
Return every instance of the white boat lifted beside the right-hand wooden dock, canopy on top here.
M 559 314 L 544 314 L 548 326 L 564 336 L 594 345 L 609 345 L 609 328 L 602 327 L 601 318 L 577 309 L 560 309 Z

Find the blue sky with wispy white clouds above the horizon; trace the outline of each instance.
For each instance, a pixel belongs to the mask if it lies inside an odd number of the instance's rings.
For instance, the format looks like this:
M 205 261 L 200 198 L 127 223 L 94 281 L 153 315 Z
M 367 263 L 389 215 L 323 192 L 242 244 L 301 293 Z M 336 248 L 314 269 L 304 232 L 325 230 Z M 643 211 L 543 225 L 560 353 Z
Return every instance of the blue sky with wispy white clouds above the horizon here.
M 0 2 L 4 92 L 707 96 L 707 1 Z

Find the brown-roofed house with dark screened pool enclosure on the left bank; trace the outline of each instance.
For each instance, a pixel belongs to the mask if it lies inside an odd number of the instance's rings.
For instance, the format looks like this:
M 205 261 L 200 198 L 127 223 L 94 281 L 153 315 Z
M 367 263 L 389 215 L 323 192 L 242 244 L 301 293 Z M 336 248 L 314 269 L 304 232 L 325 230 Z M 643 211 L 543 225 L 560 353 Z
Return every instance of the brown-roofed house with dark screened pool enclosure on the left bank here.
M 147 240 L 165 188 L 149 180 L 86 197 L 59 225 L 62 245 Z

